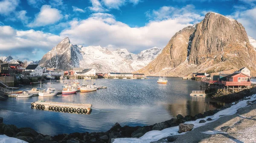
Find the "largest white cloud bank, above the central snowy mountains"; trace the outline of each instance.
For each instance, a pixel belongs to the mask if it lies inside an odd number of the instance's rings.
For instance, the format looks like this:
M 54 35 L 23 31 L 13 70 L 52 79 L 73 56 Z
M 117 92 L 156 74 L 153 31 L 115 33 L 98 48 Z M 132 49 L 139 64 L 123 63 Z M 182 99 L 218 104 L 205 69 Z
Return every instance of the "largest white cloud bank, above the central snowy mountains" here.
M 131 52 L 145 50 L 154 46 L 164 47 L 172 36 L 182 28 L 192 25 L 192 19 L 186 14 L 175 19 L 153 20 L 142 27 L 132 28 L 116 21 L 113 15 L 106 13 L 92 14 L 86 20 L 71 21 L 70 28 L 61 32 L 69 36 L 74 44 L 101 45 L 111 48 L 127 48 Z M 183 19 L 187 23 L 184 22 Z

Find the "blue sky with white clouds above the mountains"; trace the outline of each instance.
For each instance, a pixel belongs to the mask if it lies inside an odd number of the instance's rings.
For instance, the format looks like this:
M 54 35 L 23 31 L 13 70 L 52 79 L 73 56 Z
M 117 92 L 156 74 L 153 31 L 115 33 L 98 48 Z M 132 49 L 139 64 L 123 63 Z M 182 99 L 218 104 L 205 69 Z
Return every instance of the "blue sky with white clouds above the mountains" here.
M 164 48 L 207 12 L 238 20 L 256 39 L 256 0 L 0 0 L 0 55 L 40 60 L 67 36 L 131 53 Z

